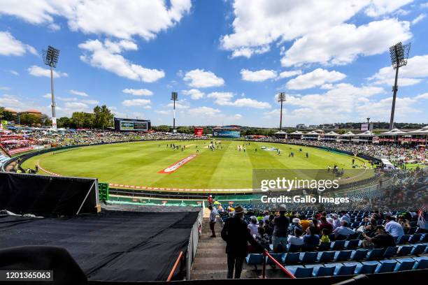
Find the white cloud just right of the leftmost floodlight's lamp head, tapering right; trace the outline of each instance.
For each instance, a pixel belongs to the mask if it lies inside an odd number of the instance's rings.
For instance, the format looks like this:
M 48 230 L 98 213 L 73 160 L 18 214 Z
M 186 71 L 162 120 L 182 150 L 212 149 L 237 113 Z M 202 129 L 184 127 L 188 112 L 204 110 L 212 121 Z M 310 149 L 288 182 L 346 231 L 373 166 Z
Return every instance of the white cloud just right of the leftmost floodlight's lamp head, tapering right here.
M 80 43 L 79 47 L 90 52 L 90 54 L 80 56 L 82 61 L 121 77 L 143 82 L 155 82 L 165 76 L 162 70 L 144 68 L 141 65 L 133 64 L 120 54 L 124 50 L 138 49 L 137 45 L 132 41 L 113 42 L 106 40 L 101 43 L 98 40 L 88 40 L 85 43 Z

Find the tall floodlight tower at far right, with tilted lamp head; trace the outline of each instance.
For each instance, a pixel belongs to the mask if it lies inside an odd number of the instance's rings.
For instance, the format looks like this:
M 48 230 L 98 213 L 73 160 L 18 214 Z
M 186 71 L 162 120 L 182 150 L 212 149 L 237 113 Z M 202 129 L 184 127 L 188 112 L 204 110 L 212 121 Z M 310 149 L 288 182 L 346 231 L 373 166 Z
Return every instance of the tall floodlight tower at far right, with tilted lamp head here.
M 390 47 L 390 56 L 391 56 L 391 64 L 392 68 L 395 69 L 395 82 L 392 87 L 392 108 L 391 108 L 391 119 L 390 119 L 390 131 L 394 129 L 394 112 L 395 112 L 395 99 L 397 98 L 398 91 L 398 71 L 401 66 L 405 66 L 407 64 L 408 52 L 410 51 L 411 44 L 403 45 L 403 43 L 399 42 L 396 45 L 392 45 Z

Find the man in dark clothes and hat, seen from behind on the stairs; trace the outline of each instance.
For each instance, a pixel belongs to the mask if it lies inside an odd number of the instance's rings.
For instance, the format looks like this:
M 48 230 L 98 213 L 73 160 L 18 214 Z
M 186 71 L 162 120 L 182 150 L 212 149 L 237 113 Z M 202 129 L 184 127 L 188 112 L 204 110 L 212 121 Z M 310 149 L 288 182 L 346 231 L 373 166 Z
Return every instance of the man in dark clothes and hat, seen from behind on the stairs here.
M 235 207 L 234 217 L 227 219 L 222 229 L 222 239 L 226 242 L 228 279 L 234 277 L 234 271 L 235 279 L 241 278 L 243 261 L 248 255 L 248 242 L 260 253 L 264 251 L 248 231 L 248 225 L 243 221 L 244 211 L 241 206 Z

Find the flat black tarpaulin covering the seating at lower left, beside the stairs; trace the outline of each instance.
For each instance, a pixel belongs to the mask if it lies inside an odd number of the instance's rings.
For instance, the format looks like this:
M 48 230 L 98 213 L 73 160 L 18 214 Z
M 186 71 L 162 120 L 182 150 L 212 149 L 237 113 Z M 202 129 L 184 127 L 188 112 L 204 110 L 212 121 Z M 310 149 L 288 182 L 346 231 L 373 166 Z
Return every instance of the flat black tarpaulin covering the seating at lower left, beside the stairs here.
M 103 211 L 68 219 L 0 216 L 0 248 L 66 248 L 90 280 L 164 281 L 199 212 Z

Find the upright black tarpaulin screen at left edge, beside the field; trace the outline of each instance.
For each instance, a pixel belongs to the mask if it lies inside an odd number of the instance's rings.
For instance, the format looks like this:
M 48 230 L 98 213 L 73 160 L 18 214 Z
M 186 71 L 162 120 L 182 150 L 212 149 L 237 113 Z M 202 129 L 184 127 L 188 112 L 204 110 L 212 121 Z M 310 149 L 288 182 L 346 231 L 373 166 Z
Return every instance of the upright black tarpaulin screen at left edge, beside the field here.
M 39 216 L 97 212 L 97 180 L 0 173 L 0 210 Z

